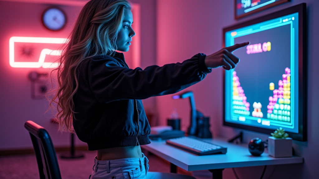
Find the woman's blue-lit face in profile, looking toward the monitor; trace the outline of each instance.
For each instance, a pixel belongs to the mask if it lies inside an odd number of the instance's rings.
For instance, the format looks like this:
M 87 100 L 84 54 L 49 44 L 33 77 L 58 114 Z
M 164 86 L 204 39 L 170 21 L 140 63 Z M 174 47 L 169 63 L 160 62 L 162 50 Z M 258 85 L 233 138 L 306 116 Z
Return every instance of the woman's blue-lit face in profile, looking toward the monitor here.
M 115 44 L 118 51 L 127 52 L 130 49 L 132 37 L 135 35 L 132 29 L 133 15 L 130 10 L 124 11 L 124 19 L 122 22 L 121 30 L 117 35 Z

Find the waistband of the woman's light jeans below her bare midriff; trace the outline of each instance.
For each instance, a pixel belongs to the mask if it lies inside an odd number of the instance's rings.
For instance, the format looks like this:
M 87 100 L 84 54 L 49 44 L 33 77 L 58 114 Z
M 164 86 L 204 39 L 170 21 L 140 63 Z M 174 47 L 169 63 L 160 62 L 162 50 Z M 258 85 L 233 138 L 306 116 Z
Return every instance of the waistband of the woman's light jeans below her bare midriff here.
M 137 166 L 137 165 L 141 166 L 141 168 L 143 168 L 142 166 L 145 165 L 145 155 L 143 153 L 141 158 L 125 158 L 125 159 L 100 161 L 100 160 L 97 160 L 95 157 L 93 170 L 95 170 L 96 172 L 98 168 L 101 168 L 101 169 L 104 168 L 104 169 L 107 169 L 109 173 L 110 168 L 124 167 L 124 166 Z

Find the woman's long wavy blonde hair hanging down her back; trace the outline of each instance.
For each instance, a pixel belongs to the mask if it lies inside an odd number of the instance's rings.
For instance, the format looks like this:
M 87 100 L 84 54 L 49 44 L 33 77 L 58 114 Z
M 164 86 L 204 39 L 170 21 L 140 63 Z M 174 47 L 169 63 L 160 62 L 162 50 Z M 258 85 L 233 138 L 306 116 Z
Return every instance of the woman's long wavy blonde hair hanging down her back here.
M 77 68 L 81 61 L 95 55 L 113 55 L 122 26 L 127 0 L 91 0 L 81 10 L 69 42 L 63 48 L 57 74 L 57 88 L 49 93 L 50 107 L 56 109 L 59 130 L 74 132 L 73 95 L 78 90 Z

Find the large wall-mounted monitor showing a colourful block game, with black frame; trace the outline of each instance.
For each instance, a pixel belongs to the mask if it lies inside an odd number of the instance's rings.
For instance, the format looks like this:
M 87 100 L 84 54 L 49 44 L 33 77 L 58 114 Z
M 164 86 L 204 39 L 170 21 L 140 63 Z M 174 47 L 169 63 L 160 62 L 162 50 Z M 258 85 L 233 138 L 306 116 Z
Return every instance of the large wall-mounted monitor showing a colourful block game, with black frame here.
M 306 141 L 305 18 L 303 3 L 224 28 L 225 47 L 250 41 L 224 73 L 224 125 Z

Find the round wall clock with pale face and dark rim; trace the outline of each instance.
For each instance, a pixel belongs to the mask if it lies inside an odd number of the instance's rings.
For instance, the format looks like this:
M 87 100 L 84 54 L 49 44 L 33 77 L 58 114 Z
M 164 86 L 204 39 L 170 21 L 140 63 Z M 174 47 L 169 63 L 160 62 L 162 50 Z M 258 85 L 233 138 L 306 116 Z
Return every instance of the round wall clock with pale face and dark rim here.
M 60 9 L 50 8 L 44 12 L 42 20 L 46 28 L 57 31 L 64 27 L 66 18 Z

